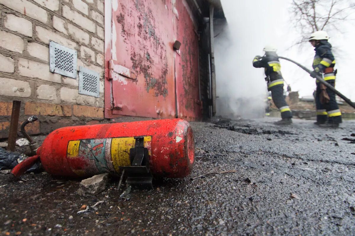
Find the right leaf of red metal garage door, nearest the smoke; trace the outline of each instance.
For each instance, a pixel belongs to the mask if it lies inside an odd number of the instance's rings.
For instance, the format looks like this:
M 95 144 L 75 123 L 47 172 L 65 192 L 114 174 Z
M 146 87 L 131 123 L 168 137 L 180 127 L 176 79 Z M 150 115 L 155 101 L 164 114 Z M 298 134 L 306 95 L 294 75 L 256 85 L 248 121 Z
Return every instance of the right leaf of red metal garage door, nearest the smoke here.
M 202 115 L 196 21 L 185 0 L 177 0 L 174 7 L 175 39 L 181 42 L 175 53 L 178 117 L 196 120 Z

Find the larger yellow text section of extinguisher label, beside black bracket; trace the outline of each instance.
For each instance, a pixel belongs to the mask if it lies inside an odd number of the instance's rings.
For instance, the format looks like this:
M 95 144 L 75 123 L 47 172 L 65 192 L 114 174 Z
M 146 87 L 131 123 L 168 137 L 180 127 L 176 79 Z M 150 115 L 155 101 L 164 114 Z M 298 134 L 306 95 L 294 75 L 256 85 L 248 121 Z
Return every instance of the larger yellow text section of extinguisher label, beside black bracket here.
M 152 141 L 151 136 L 144 137 L 144 146 Z M 111 141 L 111 160 L 116 171 L 119 166 L 130 166 L 130 149 L 134 148 L 136 140 L 133 137 L 113 138 Z M 149 145 L 150 146 L 150 145 Z M 149 150 L 150 151 L 150 150 Z

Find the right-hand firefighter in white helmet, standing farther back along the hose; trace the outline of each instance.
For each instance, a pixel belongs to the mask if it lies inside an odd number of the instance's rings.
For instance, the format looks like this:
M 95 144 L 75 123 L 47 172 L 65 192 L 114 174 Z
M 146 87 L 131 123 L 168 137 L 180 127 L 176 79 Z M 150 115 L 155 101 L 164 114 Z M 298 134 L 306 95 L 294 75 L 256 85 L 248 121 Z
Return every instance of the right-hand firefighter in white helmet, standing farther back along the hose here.
M 335 59 L 332 53 L 332 45 L 328 42 L 329 36 L 326 31 L 316 31 L 311 34 L 309 42 L 315 47 L 316 55 L 313 59 L 313 71 L 310 74 L 315 78 L 316 75 L 323 77 L 325 81 L 335 86 L 334 71 Z M 316 80 L 316 109 L 317 122 L 320 127 L 337 128 L 342 122 L 342 113 L 339 110 L 335 93 L 329 90 L 325 85 Z

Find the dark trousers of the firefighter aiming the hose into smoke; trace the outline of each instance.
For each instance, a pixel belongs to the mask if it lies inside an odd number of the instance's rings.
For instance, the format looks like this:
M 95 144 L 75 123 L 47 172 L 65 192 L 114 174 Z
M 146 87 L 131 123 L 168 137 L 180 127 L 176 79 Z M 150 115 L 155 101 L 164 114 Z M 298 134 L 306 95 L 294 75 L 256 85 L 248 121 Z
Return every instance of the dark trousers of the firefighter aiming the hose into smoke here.
M 281 112 L 281 118 L 292 118 L 292 113 L 287 105 L 285 98 L 284 98 L 284 84 L 282 81 L 282 84 L 277 84 L 278 82 L 272 81 L 268 85 L 268 90 L 271 91 L 271 97 L 272 100 L 275 103 L 275 106 L 280 110 Z M 276 84 L 276 85 L 273 85 Z

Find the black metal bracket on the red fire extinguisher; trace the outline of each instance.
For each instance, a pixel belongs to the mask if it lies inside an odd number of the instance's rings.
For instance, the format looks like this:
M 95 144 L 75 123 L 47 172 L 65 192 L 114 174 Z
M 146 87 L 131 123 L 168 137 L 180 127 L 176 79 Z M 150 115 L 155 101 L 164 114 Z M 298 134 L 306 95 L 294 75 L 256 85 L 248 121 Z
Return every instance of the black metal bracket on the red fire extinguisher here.
M 144 137 L 135 137 L 136 144 L 130 149 L 131 166 L 120 166 L 127 173 L 127 184 L 133 189 L 152 189 L 153 176 L 149 168 L 148 149 L 144 148 Z

